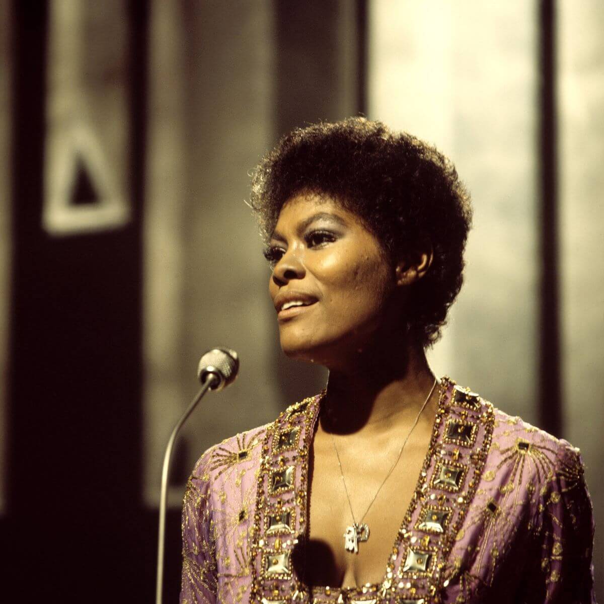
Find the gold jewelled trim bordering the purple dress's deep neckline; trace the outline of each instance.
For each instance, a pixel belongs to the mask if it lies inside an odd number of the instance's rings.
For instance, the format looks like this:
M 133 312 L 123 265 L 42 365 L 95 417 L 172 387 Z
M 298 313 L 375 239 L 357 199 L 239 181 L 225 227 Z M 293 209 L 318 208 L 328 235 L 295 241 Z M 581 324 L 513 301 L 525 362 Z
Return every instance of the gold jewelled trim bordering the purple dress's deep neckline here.
M 251 544 L 251 601 L 377 603 L 396 596 L 401 602 L 432 602 L 490 446 L 492 407 L 442 378 L 431 440 L 382 581 L 314 586 L 311 593 L 297 576 L 291 553 L 299 539 L 308 538 L 309 452 L 323 396 L 290 406 L 266 431 Z

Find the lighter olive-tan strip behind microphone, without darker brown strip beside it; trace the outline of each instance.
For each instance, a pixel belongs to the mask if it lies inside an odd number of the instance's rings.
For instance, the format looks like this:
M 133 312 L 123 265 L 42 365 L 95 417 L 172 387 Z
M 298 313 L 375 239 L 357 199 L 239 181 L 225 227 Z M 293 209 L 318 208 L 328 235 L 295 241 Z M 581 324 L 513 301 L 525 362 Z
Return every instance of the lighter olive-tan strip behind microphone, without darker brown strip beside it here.
M 145 216 L 153 506 L 167 437 L 198 389 L 199 356 L 228 345 L 242 359 L 236 384 L 220 400 L 207 397 L 187 426 L 175 475 L 179 506 L 182 484 L 205 448 L 278 413 L 278 387 L 266 377 L 273 334 L 260 284 L 267 272 L 243 201 L 247 173 L 273 136 L 271 4 L 158 0 L 150 32 L 159 66 L 150 72 L 148 160 L 159 170 L 147 172 Z M 170 104 L 176 111 L 166 111 Z

